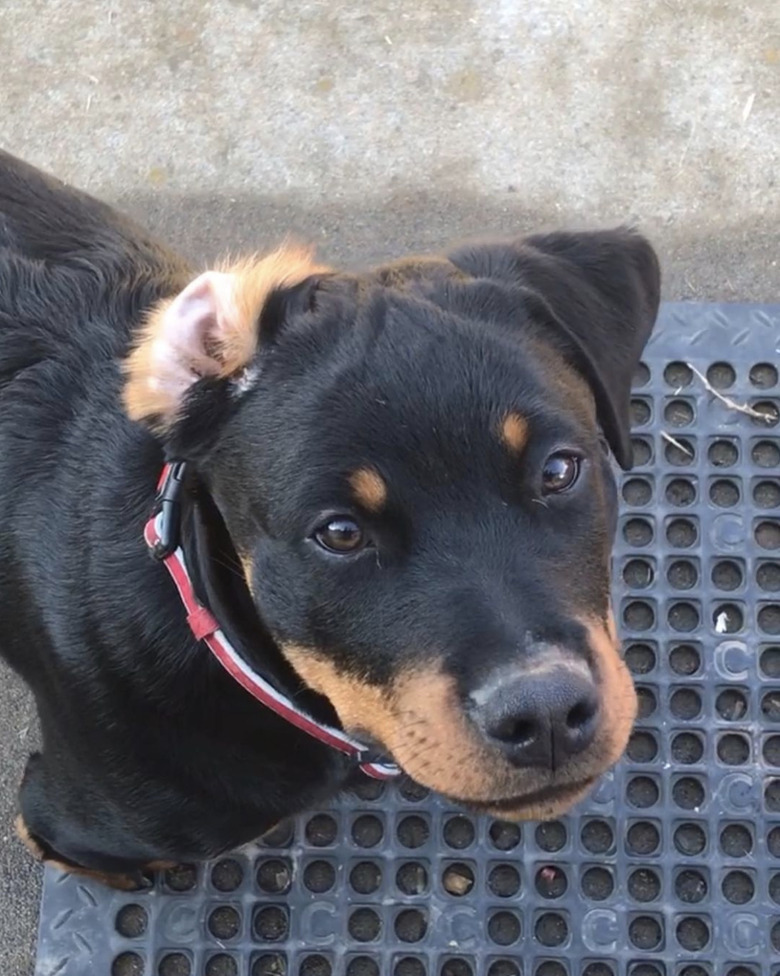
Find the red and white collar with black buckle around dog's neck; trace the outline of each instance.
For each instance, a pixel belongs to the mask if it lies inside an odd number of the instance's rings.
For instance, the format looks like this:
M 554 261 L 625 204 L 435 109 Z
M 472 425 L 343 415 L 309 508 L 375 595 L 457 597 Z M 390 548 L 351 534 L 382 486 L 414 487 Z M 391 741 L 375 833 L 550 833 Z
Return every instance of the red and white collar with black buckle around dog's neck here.
M 241 657 L 211 611 L 198 601 L 184 552 L 179 545 L 179 494 L 184 472 L 183 462 L 166 464 L 163 468 L 157 486 L 155 514 L 146 523 L 144 539 L 152 556 L 162 562 L 173 578 L 195 639 L 206 644 L 222 667 L 242 688 L 285 721 L 308 733 L 318 742 L 354 759 L 360 769 L 373 779 L 384 780 L 398 776 L 400 770 L 394 763 L 382 762 L 363 743 L 348 736 L 341 729 L 318 722 L 301 711 L 286 695 L 277 691 Z

